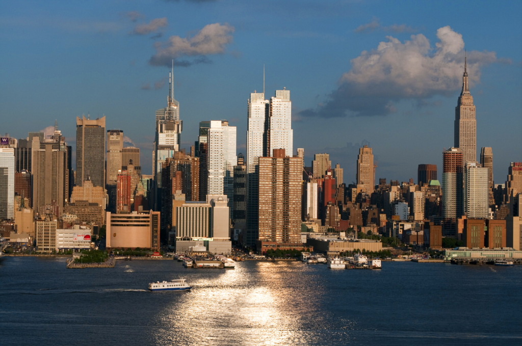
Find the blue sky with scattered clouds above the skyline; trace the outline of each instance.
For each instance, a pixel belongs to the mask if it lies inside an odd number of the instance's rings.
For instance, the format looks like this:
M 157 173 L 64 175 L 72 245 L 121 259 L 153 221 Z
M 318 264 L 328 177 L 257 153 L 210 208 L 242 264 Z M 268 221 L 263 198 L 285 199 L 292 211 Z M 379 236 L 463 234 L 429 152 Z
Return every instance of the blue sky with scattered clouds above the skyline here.
M 453 146 L 465 50 L 477 146 L 494 177 L 522 161 L 520 1 L 2 1 L 0 133 L 25 138 L 55 119 L 74 145 L 76 116 L 106 116 L 151 171 L 155 112 L 170 61 L 182 147 L 199 121 L 227 119 L 245 153 L 246 102 L 291 91 L 294 148 L 329 153 L 355 180 L 359 147 L 376 178 L 417 180 Z

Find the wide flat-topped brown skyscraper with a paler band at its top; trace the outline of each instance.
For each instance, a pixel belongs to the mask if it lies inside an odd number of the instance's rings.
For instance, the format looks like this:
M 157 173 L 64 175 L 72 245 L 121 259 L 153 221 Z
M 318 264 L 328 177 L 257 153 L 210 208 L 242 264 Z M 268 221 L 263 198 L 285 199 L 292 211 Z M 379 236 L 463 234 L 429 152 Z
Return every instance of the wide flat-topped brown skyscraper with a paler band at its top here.
M 105 187 L 105 117 L 76 117 L 76 185 Z

